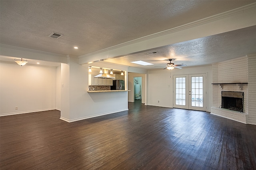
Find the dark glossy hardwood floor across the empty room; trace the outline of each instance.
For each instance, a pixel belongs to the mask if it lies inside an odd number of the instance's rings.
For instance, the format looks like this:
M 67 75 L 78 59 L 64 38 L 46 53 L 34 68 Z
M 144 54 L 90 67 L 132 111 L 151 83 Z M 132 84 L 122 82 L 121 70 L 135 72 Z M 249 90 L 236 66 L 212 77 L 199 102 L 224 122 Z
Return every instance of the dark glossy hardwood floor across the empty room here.
M 256 169 L 256 125 L 129 103 L 73 123 L 60 111 L 0 117 L 1 170 Z

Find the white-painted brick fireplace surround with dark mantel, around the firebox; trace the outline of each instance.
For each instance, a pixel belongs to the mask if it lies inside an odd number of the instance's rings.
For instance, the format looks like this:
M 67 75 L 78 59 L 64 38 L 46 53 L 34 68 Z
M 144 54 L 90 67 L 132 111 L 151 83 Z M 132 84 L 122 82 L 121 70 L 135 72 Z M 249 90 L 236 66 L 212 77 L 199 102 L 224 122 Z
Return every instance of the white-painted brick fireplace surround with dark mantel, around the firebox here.
M 212 64 L 211 114 L 256 125 L 256 54 Z M 244 112 L 221 108 L 221 91 L 244 92 Z

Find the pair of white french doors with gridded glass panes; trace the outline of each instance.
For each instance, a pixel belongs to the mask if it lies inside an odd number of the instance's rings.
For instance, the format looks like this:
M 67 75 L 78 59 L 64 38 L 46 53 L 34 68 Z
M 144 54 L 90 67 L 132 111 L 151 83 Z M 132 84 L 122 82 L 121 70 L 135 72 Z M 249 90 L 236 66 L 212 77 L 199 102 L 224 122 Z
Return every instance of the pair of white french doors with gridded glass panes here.
M 174 76 L 174 107 L 206 111 L 206 74 Z

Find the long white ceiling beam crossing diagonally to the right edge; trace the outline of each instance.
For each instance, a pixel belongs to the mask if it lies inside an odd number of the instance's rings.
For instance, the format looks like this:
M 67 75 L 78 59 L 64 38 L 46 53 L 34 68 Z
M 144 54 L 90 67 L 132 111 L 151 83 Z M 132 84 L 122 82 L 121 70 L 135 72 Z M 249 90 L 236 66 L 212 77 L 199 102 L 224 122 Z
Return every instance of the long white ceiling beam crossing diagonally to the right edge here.
M 256 25 L 256 3 L 194 21 L 179 27 L 79 56 L 79 64 L 122 57 L 140 51 L 216 35 Z

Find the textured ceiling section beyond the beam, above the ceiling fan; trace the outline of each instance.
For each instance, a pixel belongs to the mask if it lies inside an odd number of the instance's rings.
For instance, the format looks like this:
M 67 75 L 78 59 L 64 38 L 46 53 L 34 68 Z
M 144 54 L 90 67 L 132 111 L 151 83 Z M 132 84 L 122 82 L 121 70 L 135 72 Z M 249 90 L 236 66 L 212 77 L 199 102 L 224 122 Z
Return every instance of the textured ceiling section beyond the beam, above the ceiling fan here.
M 153 51 L 158 53 L 148 54 Z M 197 66 L 218 63 L 251 53 L 256 53 L 256 26 L 104 61 L 137 68 L 155 69 L 155 66 L 166 66 L 166 63 L 170 63 L 168 59 L 175 59 L 172 62 L 175 64 Z M 138 59 L 154 65 L 140 66 L 130 63 L 138 61 Z

